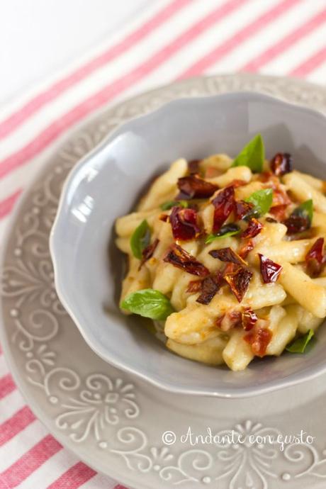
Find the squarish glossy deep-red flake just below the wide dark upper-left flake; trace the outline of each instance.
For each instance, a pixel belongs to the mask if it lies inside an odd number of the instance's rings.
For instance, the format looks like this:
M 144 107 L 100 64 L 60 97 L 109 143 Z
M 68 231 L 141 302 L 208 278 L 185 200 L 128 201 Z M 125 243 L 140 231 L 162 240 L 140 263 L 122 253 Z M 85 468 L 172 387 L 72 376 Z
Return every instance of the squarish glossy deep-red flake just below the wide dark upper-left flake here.
M 200 235 L 198 216 L 194 209 L 173 207 L 169 220 L 174 240 L 193 240 Z

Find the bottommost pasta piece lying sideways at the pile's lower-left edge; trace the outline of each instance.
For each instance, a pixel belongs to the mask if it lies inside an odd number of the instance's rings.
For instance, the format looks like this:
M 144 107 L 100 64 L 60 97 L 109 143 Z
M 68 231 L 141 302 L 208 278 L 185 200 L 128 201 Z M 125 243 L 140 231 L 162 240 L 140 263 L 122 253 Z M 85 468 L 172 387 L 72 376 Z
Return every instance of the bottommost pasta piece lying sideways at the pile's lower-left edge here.
M 167 347 L 174 353 L 186 359 L 201 361 L 203 364 L 223 364 L 223 350 L 227 344 L 225 335 L 207 339 L 201 344 L 181 344 L 173 339 L 167 339 Z

